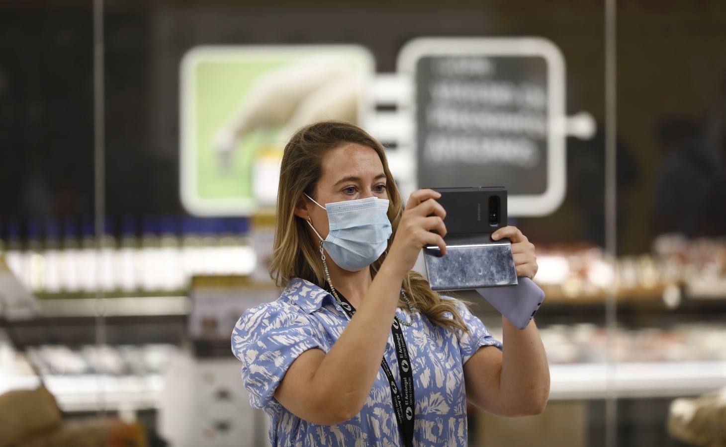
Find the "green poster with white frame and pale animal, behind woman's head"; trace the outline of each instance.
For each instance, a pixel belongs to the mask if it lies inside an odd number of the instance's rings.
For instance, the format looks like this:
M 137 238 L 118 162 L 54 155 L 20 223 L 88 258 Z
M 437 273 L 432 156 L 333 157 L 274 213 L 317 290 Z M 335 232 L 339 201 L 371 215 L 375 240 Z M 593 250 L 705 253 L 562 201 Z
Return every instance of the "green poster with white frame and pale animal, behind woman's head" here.
M 282 149 L 318 120 L 361 122 L 361 46 L 202 46 L 181 62 L 181 201 L 197 216 L 269 213 Z

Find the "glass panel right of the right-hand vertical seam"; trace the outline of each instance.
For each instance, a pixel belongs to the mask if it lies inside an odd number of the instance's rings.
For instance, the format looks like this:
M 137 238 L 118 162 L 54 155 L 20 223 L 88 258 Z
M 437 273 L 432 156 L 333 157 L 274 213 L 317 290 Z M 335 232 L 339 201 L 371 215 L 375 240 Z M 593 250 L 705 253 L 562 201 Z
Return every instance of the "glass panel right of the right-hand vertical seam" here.
M 619 445 L 648 425 L 664 445 L 722 427 L 699 427 L 719 406 L 698 396 L 726 385 L 726 14 L 662 6 L 618 13 Z

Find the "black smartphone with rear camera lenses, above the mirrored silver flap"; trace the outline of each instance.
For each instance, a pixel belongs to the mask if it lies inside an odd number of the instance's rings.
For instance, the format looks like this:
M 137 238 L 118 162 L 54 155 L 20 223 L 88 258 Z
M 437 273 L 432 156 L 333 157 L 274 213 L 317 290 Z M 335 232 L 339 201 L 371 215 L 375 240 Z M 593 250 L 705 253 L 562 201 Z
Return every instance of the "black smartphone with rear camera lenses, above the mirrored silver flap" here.
M 432 188 L 446 210 L 446 237 L 492 234 L 507 226 L 507 189 L 504 186 Z

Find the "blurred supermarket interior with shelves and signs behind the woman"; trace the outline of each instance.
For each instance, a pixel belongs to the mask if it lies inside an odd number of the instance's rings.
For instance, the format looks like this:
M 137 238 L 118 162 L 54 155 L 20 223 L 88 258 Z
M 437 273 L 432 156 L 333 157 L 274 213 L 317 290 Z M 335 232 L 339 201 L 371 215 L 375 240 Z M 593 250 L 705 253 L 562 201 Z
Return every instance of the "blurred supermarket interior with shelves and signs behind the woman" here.
M 266 445 L 229 335 L 279 296 L 285 138 L 338 118 L 405 194 L 507 186 L 537 245 L 550 403 L 471 406 L 471 446 L 724 445 L 726 4 L 618 2 L 614 123 L 605 6 L 0 1 L 0 417 L 55 445 Z

